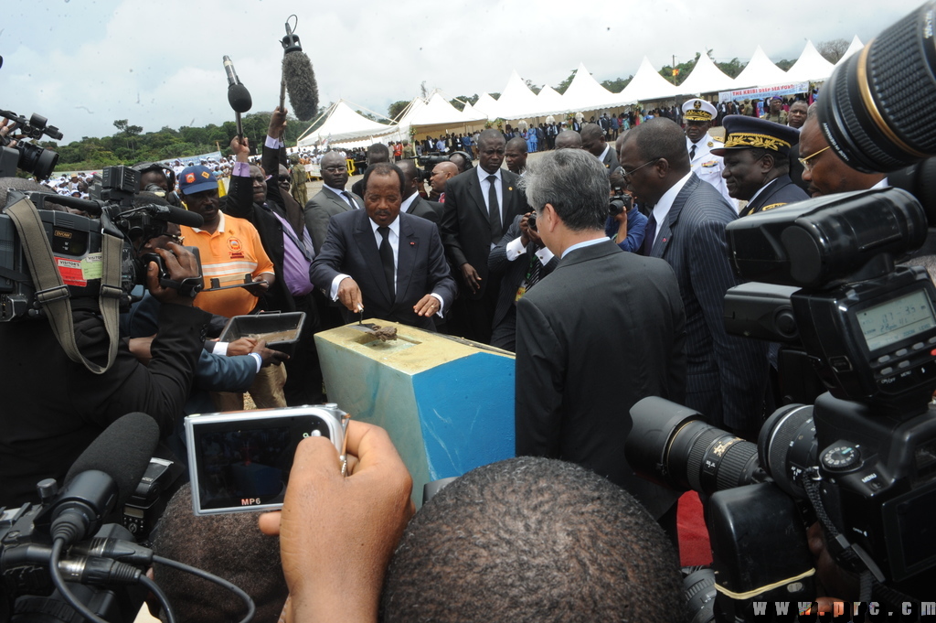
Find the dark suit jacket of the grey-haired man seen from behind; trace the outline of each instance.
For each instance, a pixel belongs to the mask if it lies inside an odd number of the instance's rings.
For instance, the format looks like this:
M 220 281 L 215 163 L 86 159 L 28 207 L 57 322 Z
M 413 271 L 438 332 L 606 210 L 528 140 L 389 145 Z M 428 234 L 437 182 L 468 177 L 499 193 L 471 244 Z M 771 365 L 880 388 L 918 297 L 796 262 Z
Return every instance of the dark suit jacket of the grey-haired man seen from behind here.
M 638 400 L 682 401 L 684 321 L 665 262 L 611 241 L 566 255 L 517 304 L 517 454 L 588 467 L 662 515 L 679 494 L 637 477 L 624 441 Z

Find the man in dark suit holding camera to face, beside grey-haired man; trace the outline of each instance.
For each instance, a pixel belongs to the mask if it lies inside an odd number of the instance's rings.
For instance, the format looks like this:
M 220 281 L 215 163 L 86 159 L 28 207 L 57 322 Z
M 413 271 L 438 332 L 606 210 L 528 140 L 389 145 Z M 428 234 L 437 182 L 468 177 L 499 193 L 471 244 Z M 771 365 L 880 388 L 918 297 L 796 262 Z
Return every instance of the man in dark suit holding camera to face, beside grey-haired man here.
M 517 348 L 517 302 L 559 263 L 535 230 L 535 219 L 530 227 L 530 216 L 515 216 L 488 258 L 490 274 L 501 275 L 501 293 L 490 335 L 490 345 L 498 349 Z

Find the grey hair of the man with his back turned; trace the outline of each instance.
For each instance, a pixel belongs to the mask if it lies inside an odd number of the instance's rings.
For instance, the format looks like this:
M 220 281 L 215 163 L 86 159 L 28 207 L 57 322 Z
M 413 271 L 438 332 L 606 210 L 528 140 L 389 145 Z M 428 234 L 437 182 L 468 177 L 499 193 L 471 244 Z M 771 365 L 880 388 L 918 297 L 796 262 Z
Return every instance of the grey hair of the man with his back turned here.
M 611 187 L 607 171 L 592 154 L 579 149 L 549 152 L 530 164 L 519 186 L 534 209 L 552 205 L 570 230 L 605 229 Z

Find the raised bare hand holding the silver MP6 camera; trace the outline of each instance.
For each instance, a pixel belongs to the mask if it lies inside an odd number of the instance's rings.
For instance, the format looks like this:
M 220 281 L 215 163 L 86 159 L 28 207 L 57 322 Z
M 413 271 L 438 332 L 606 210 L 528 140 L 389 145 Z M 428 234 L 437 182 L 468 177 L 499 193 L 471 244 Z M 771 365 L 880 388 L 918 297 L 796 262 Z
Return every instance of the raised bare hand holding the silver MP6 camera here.
M 352 420 L 350 475 L 327 438 L 304 439 L 296 451 L 283 512 L 260 516 L 280 535 L 291 620 L 376 621 L 390 556 L 413 515 L 413 480 L 387 432 Z

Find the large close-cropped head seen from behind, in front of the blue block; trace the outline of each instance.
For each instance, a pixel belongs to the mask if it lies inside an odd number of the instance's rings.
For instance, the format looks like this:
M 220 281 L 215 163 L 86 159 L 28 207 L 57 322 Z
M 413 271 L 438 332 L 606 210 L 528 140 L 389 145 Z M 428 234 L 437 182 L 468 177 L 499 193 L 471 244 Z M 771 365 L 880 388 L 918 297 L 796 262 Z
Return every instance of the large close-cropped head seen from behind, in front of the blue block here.
M 650 514 L 583 467 L 534 457 L 478 467 L 433 497 L 381 599 L 385 623 L 670 623 L 682 612 L 679 561 Z

